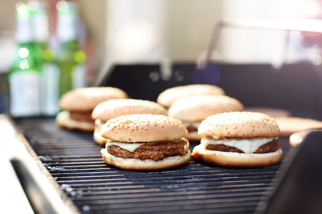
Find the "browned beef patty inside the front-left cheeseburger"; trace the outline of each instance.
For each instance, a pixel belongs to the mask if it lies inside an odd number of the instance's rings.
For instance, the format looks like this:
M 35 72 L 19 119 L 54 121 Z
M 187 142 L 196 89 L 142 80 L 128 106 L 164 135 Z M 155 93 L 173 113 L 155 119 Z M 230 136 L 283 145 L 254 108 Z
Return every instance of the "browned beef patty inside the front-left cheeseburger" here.
M 152 159 L 160 161 L 164 158 L 185 155 L 189 150 L 187 141 L 180 142 L 160 142 L 152 145 L 139 146 L 134 152 L 112 145 L 108 147 L 108 152 L 119 158 L 134 158 L 140 160 Z

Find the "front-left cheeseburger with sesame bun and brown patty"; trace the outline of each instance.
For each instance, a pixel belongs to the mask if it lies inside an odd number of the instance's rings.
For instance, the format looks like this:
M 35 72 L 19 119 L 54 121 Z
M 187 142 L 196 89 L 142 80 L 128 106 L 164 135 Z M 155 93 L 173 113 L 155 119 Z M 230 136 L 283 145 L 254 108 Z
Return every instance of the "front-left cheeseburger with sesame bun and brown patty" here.
M 110 165 L 131 170 L 159 170 L 190 160 L 188 130 L 163 114 L 129 114 L 108 120 L 100 129 L 108 139 L 101 149 Z

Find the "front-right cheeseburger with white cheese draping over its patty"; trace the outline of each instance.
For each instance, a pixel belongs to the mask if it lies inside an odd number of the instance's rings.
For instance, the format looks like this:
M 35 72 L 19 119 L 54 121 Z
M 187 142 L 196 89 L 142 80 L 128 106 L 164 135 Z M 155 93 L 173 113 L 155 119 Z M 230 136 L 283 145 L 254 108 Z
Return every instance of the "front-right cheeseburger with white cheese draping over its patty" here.
M 262 167 L 282 157 L 275 120 L 259 112 L 224 112 L 208 116 L 198 128 L 203 135 L 192 157 L 207 164 Z

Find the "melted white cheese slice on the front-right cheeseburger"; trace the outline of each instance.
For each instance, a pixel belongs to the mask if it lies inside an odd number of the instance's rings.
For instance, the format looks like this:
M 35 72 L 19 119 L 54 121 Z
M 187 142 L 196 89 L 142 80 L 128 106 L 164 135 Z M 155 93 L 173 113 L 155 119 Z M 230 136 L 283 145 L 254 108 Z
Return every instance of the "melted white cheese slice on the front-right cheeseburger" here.
M 278 139 L 278 138 L 275 138 Z M 219 145 L 224 144 L 226 146 L 235 147 L 239 150 L 243 151 L 246 154 L 254 153 L 259 147 L 262 145 L 273 141 L 274 138 L 245 138 L 245 139 L 210 139 L 210 138 L 203 138 L 201 139 L 200 143 L 203 145 L 204 148 L 207 148 L 209 144 L 211 145 Z

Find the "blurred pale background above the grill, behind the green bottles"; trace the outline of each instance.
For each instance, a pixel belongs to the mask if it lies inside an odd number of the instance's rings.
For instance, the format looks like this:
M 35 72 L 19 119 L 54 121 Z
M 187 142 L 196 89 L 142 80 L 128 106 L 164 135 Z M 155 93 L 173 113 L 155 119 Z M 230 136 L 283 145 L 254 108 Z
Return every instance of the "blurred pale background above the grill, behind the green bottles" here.
M 45 59 L 46 62 L 53 64 L 59 61 L 59 54 L 66 42 L 60 38 L 65 39 L 66 34 L 68 37 L 69 30 L 73 28 L 70 26 L 77 26 L 74 37 L 78 40 L 76 49 L 78 53 L 82 53 L 82 62 L 77 62 L 82 64 L 79 69 L 82 71 L 78 73 L 78 77 L 73 77 L 78 78 L 78 86 L 74 84 L 71 88 L 98 85 L 115 65 L 167 65 L 176 62 L 199 65 L 207 59 L 208 53 L 211 53 L 208 56 L 213 62 L 269 63 L 276 68 L 283 63 L 310 62 L 320 65 L 322 62 L 318 32 L 310 34 L 300 30 L 222 25 L 222 21 L 227 18 L 271 21 L 320 18 L 322 11 L 317 0 L 2 0 L 0 112 L 5 112 L 8 108 L 8 73 L 13 72 L 19 47 L 17 31 L 22 31 L 18 30 L 17 8 L 22 4 L 32 6 L 35 2 L 36 5 L 41 3 L 45 11 L 42 19 L 47 22 L 35 26 L 42 25 L 40 29 L 47 31 L 43 37 L 43 43 L 47 45 L 45 49 L 56 54 L 53 54 L 55 57 L 52 56 L 52 60 Z M 59 19 L 60 14 L 63 14 L 64 3 L 71 3 L 69 7 L 74 12 L 69 12 L 69 15 L 73 14 L 71 17 L 77 20 L 77 24 L 72 23 L 68 27 L 70 17 L 69 21 L 68 18 L 67 21 Z M 32 11 L 30 14 L 32 16 Z M 318 27 L 321 28 L 317 25 Z M 212 48 L 213 52 L 208 52 Z M 58 67 L 62 69 L 63 66 Z M 59 79 L 57 75 L 49 76 L 49 82 Z M 48 80 L 45 85 L 48 86 Z M 52 87 L 57 90 L 62 86 L 58 83 Z M 46 90 L 50 93 L 50 89 Z M 69 89 L 67 87 L 64 90 Z M 56 102 L 58 98 L 46 102 Z M 57 110 L 45 109 L 45 114 L 55 114 Z

